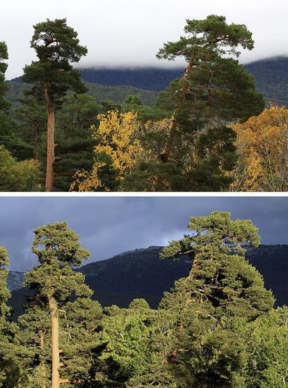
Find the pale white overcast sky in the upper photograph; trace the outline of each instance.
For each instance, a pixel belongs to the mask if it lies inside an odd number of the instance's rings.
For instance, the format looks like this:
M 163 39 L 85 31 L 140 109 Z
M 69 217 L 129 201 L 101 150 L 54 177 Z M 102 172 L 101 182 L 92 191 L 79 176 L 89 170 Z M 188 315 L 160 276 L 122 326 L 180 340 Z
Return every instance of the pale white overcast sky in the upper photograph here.
M 255 49 L 243 53 L 241 62 L 288 55 L 287 0 L 3 0 L 0 41 L 10 55 L 6 76 L 22 75 L 31 63 L 33 24 L 47 18 L 66 17 L 79 33 L 88 47 L 81 66 L 135 67 L 168 66 L 155 58 L 163 42 L 178 40 L 187 18 L 211 14 L 225 15 L 227 22 L 246 24 L 253 32 Z

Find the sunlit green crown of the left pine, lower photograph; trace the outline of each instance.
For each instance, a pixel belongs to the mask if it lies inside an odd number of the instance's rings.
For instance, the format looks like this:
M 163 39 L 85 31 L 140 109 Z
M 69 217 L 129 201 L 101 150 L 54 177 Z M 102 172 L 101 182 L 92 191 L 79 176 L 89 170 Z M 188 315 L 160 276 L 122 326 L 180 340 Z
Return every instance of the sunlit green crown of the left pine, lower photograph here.
M 81 248 L 79 236 L 67 228 L 67 223 L 47 224 L 34 230 L 32 252 L 40 266 L 25 274 L 24 286 L 37 289 L 45 300 L 51 296 L 65 302 L 72 295 L 90 296 L 91 291 L 81 273 L 74 267 L 80 266 L 89 252 Z

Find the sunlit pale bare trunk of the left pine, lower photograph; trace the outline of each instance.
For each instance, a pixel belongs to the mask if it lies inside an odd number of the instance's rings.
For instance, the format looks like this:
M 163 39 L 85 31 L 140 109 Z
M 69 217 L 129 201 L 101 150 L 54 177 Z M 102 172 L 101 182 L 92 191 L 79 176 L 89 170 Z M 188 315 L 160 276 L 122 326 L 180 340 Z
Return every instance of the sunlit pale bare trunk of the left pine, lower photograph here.
M 60 357 L 59 357 L 59 320 L 58 320 L 58 305 L 56 300 L 49 298 L 49 309 L 51 316 L 51 388 L 60 387 Z

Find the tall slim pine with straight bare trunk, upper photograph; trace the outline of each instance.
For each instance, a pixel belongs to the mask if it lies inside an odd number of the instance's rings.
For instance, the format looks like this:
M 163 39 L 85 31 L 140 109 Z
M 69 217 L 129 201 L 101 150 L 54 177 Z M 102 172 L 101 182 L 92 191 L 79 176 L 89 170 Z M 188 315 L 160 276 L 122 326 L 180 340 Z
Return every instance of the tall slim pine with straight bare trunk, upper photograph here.
M 86 47 L 79 45 L 77 33 L 67 26 L 66 19 L 55 19 L 36 24 L 31 47 L 37 61 L 24 67 L 23 81 L 33 83 L 32 93 L 45 99 L 47 107 L 47 168 L 45 191 L 52 191 L 55 161 L 55 110 L 67 90 L 85 92 L 86 86 L 80 72 L 71 63 L 78 63 L 87 54 Z

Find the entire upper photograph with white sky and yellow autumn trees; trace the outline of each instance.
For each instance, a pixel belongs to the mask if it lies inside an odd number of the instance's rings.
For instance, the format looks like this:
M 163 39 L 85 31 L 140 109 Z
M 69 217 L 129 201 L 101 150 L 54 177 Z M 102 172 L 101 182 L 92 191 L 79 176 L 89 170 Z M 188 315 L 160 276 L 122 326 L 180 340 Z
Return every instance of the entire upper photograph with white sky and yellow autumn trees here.
M 287 0 L 3 1 L 0 191 L 288 191 L 287 15 Z

